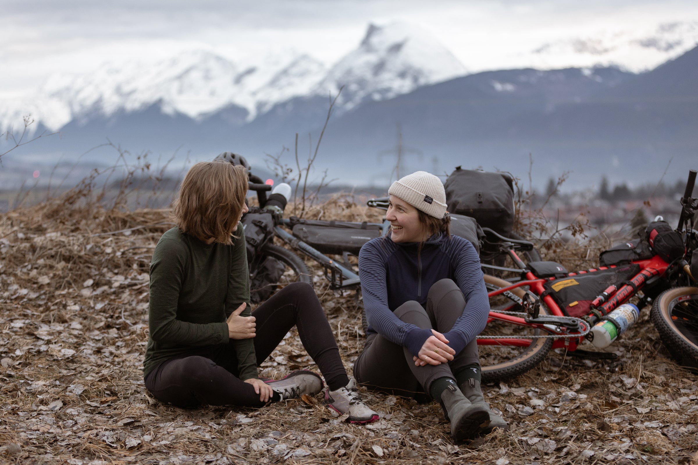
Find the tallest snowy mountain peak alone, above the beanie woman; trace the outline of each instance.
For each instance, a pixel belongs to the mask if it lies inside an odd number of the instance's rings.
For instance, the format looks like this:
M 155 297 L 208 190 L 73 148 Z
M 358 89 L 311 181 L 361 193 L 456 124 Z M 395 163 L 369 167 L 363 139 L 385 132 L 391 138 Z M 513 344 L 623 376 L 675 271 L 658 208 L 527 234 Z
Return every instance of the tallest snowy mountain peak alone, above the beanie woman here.
M 370 24 L 357 49 L 339 60 L 316 87 L 336 94 L 351 109 L 364 100 L 384 100 L 466 74 L 466 68 L 426 31 L 404 23 Z

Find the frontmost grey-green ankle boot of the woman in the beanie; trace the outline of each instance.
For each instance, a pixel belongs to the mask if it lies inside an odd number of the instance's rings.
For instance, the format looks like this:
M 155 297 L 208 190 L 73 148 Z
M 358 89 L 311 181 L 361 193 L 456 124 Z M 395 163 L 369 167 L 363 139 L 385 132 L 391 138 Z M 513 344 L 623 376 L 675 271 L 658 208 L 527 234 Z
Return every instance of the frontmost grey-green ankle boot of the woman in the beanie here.
M 487 409 L 472 404 L 455 385 L 441 394 L 441 407 L 451 422 L 451 435 L 456 442 L 473 439 L 489 426 Z

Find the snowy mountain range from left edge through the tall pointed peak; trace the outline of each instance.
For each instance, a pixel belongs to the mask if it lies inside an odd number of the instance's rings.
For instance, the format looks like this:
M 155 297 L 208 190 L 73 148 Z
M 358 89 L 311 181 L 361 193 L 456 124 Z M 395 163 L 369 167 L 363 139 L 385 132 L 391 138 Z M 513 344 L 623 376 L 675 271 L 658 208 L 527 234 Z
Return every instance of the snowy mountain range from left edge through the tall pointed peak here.
M 0 130 L 31 113 L 50 130 L 95 116 L 139 112 L 159 105 L 165 114 L 202 119 L 240 107 L 249 122 L 274 105 L 302 96 L 327 96 L 345 86 L 340 109 L 383 100 L 465 74 L 459 61 L 429 33 L 407 24 L 371 24 L 359 47 L 327 70 L 308 54 L 273 56 L 261 64 L 235 63 L 201 50 L 158 61 L 105 64 L 93 73 L 54 75 L 34 96 L 0 108 Z

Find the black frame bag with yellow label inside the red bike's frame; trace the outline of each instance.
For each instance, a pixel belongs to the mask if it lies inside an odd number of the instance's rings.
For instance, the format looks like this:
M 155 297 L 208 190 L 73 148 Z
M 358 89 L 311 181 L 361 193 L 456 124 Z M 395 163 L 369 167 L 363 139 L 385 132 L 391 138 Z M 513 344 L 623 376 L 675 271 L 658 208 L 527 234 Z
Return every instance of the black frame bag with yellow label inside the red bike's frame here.
M 568 317 L 583 317 L 589 313 L 591 302 L 609 286 L 621 287 L 640 272 L 640 266 L 629 264 L 607 270 L 579 273 L 543 284 L 545 294 L 555 300 Z

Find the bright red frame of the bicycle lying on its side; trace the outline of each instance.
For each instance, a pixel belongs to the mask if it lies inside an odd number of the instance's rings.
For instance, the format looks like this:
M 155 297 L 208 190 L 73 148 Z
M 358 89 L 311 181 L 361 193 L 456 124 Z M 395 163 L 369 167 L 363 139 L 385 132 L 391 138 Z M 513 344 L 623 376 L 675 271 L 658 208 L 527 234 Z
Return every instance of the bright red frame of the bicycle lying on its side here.
M 519 256 L 514 252 L 514 250 L 509 250 L 509 255 L 514 259 L 521 268 L 525 266 L 523 264 L 523 261 L 519 259 Z M 603 305 L 599 305 L 596 310 L 601 312 L 603 315 L 609 314 L 609 312 L 612 312 L 613 310 L 618 307 L 618 305 L 622 305 L 623 303 L 628 302 L 632 296 L 637 294 L 637 291 L 642 289 L 646 282 L 650 280 L 654 276 L 662 275 L 666 270 L 669 264 L 667 264 L 666 261 L 660 259 L 660 257 L 652 257 L 651 259 L 647 260 L 639 260 L 639 261 L 634 261 L 634 264 L 637 264 L 640 266 L 640 272 L 635 275 L 630 282 L 632 282 L 632 286 L 630 284 L 623 284 L 620 288 L 618 288 L 613 294 L 611 294 Z M 583 270 L 583 271 L 577 271 L 577 273 L 569 273 L 568 276 L 576 276 L 576 275 L 583 275 L 585 273 L 591 273 L 593 271 L 597 270 L 607 270 L 609 268 L 615 268 L 615 265 L 611 266 L 600 266 L 599 268 L 592 268 L 591 270 Z M 533 292 L 536 296 L 540 296 L 543 294 L 543 291 L 545 290 L 543 287 L 543 284 L 547 281 L 552 281 L 555 279 L 563 279 L 563 278 L 553 278 L 553 277 L 548 277 L 548 278 L 541 278 L 535 276 L 533 273 L 530 271 L 526 273 L 526 280 L 521 280 L 517 283 L 512 284 L 511 286 L 508 287 L 503 287 L 500 289 L 497 289 L 496 291 L 492 291 L 488 294 L 490 298 L 494 296 L 498 296 L 500 294 L 503 294 L 507 291 L 511 291 L 512 289 L 517 289 L 518 287 L 523 287 L 523 286 L 528 286 L 529 290 Z M 545 295 L 543 297 L 543 302 L 545 305 L 548 307 L 552 315 L 558 316 L 558 317 L 564 317 L 565 314 L 563 313 L 562 310 L 560 310 L 560 307 L 558 304 L 555 302 L 555 300 L 549 296 Z M 591 318 L 591 321 L 595 321 L 597 317 L 594 314 L 589 314 L 589 318 Z M 566 328 L 560 328 L 559 331 L 555 331 L 551 329 L 551 325 L 545 326 L 540 323 L 530 323 L 526 321 L 525 319 L 521 317 L 515 317 L 514 315 L 507 315 L 503 313 L 498 313 L 498 312 L 489 312 L 489 318 L 487 319 L 487 323 L 490 323 L 491 321 L 498 320 L 498 321 L 506 321 L 507 323 L 512 323 L 515 325 L 519 326 L 529 326 L 531 328 L 537 328 L 540 330 L 544 330 L 547 333 L 552 333 L 552 334 L 558 334 L 558 335 L 571 335 L 574 333 L 569 333 Z M 577 349 L 577 345 L 581 344 L 581 339 L 582 337 L 565 337 L 564 339 L 558 339 L 554 342 L 553 348 L 557 347 L 562 347 L 565 346 L 567 347 L 568 350 L 573 351 Z M 478 345 L 483 345 L 483 346 L 519 346 L 519 347 L 528 347 L 533 341 L 530 339 L 525 339 L 525 338 L 503 338 L 503 339 L 478 339 L 477 344 Z

